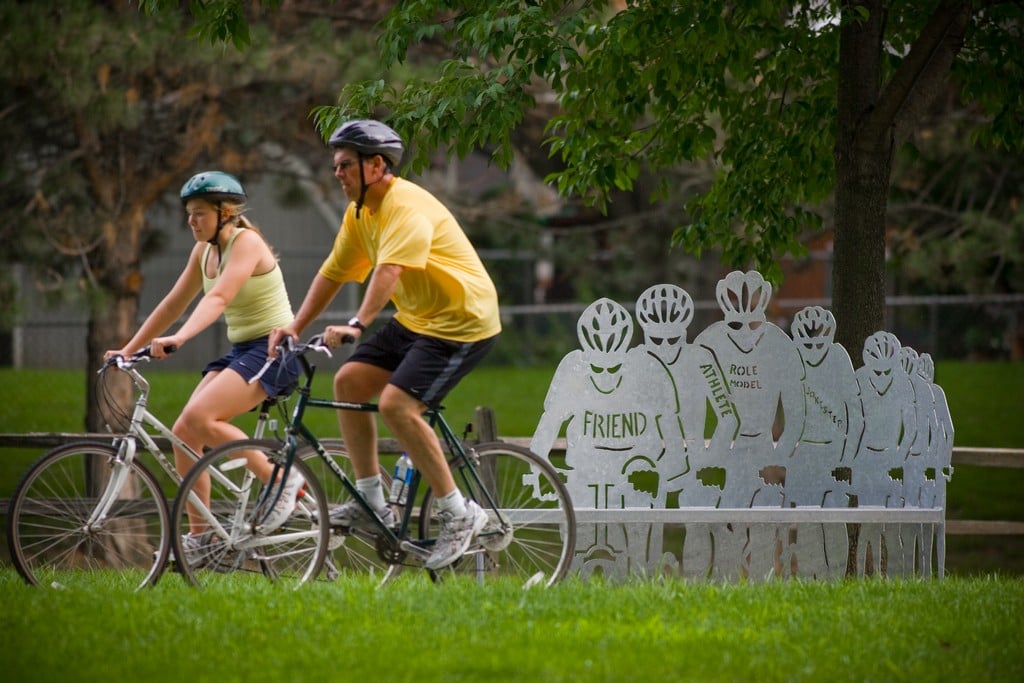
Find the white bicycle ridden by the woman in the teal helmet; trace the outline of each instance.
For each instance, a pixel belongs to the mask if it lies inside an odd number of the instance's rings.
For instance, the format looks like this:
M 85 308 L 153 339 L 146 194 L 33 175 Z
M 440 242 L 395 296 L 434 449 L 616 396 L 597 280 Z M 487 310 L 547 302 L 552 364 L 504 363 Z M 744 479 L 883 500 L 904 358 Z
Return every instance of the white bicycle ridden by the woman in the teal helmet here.
M 137 367 L 150 359 L 146 348 L 127 358 L 112 358 L 98 373 L 98 393 L 111 405 L 112 369 L 126 373 L 134 384 L 136 398 L 126 433 L 110 441 L 81 440 L 53 449 L 33 463 L 17 484 L 8 507 L 7 544 L 14 567 L 29 584 L 71 588 L 94 582 L 97 572 L 103 572 L 115 584 L 138 589 L 155 584 L 167 568 L 172 556 L 169 499 L 181 476 L 156 437 L 197 461 L 202 454 L 150 412 L 150 383 Z M 269 412 L 276 402 L 268 399 L 260 407 L 256 437 L 272 422 Z M 153 456 L 163 476 L 140 461 L 142 453 Z M 262 482 L 249 485 L 257 492 Z M 295 543 L 265 535 L 250 539 L 232 562 L 220 557 L 218 566 L 255 567 L 273 578 L 304 580 L 308 567 L 303 564 L 303 545 L 315 549 L 316 541 Z

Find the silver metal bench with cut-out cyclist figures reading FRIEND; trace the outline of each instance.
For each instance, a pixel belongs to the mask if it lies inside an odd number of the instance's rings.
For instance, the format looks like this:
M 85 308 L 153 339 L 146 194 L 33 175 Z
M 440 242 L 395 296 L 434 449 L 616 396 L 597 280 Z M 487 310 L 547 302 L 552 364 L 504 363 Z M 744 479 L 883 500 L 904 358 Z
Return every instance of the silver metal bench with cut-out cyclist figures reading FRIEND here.
M 621 304 L 580 316 L 530 447 L 565 475 L 582 574 L 942 575 L 953 429 L 931 357 L 879 332 L 855 371 L 831 312 L 802 309 L 791 336 L 770 297 L 729 273 L 692 342 L 674 285 L 637 299 L 635 346 Z

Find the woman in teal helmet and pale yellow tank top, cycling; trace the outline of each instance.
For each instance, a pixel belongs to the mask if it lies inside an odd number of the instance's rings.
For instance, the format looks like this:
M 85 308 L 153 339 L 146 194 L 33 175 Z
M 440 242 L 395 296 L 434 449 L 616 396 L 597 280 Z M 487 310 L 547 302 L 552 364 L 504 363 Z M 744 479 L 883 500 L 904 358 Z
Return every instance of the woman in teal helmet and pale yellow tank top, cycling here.
M 258 382 L 249 383 L 266 361 L 270 331 L 292 322 L 292 306 L 276 255 L 259 228 L 243 215 L 246 191 L 242 183 L 227 173 L 209 171 L 189 178 L 180 196 L 196 238 L 188 261 L 138 332 L 122 348 L 106 351 L 104 357 L 127 356 L 148 345 L 153 357 L 163 358 L 223 314 L 231 349 L 204 369 L 203 379 L 173 428 L 194 452 L 203 453 L 204 447 L 245 438 L 246 433 L 230 421 L 267 397 L 291 392 L 298 366 L 293 361 L 282 367 L 279 359 Z M 174 334 L 161 336 L 201 292 L 203 297 L 184 324 Z M 177 449 L 174 455 L 178 471 L 184 474 L 193 459 Z M 264 482 L 273 471 L 273 465 L 259 454 L 249 459 L 247 467 Z M 263 521 L 264 531 L 288 519 L 303 483 L 298 472 L 291 474 Z M 193 526 L 197 541 L 186 541 L 186 547 L 198 544 L 204 530 L 200 523 L 197 520 Z

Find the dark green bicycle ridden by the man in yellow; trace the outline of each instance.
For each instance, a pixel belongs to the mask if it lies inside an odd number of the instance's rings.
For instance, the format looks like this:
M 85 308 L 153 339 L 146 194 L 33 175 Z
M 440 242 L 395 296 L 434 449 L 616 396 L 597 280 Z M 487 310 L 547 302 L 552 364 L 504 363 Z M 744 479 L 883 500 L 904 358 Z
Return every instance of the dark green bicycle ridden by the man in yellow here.
M 285 427 L 279 430 L 275 438 L 243 439 L 206 454 L 181 484 L 172 515 L 175 528 L 182 520 L 182 509 L 189 500 L 181 492 L 193 496 L 204 474 L 211 477 L 227 475 L 225 478 L 229 481 L 218 486 L 218 500 L 239 505 L 238 509 L 245 508 L 251 510 L 254 516 L 258 515 L 265 502 L 259 499 L 255 506 L 246 503 L 244 499 L 247 497 L 239 495 L 245 488 L 244 483 L 237 481 L 239 473 L 228 474 L 239 467 L 236 461 L 243 455 L 248 457 L 250 453 L 258 452 L 273 463 L 275 476 L 282 473 L 287 475 L 289 468 L 296 467 L 306 479 L 307 485 L 298 499 L 295 514 L 290 517 L 294 526 L 283 528 L 283 532 L 275 527 L 270 533 L 262 535 L 258 524 L 251 519 L 240 520 L 231 516 L 236 508 L 219 508 L 217 515 L 225 533 L 224 538 L 217 540 L 222 542 L 221 547 L 230 551 L 248 547 L 243 544 L 274 544 L 275 541 L 281 542 L 275 548 L 288 551 L 294 547 L 298 561 L 288 565 L 287 570 L 297 572 L 294 575 L 301 581 L 307 580 L 311 575 L 309 572 L 317 571 L 325 561 L 329 563 L 330 578 L 336 550 L 339 563 L 334 567 L 335 573 L 339 570 L 381 570 L 382 585 L 402 567 L 421 564 L 435 581 L 439 579 L 440 571 L 450 569 L 454 573 L 473 575 L 478 581 L 516 577 L 526 587 L 552 585 L 565 575 L 575 547 L 575 516 L 568 490 L 549 462 L 528 449 L 497 439 L 469 443 L 466 440 L 468 430 L 461 436 L 457 435 L 441 416 L 440 408 L 425 407 L 422 416 L 434 432 L 430 438 L 438 439 L 446 467 L 463 496 L 479 510 L 474 511 L 474 515 L 478 515 L 474 520 L 475 528 L 472 538 L 463 541 L 469 545 L 462 549 L 460 557 L 431 569 L 426 565 L 434 557 L 437 543 L 446 543 L 452 533 L 450 530 L 446 532 L 449 516 L 434 505 L 436 492 L 429 486 L 422 471 L 414 466 L 408 475 L 404 503 L 391 500 L 388 502 L 390 511 L 378 513 L 356 487 L 356 477 L 350 473 L 351 454 L 346 453 L 344 447 L 339 453 L 329 439 L 317 438 L 305 423 L 309 409 L 374 414 L 381 412 L 379 403 L 312 395 L 315 367 L 308 353 L 317 351 L 331 355 L 322 336 L 314 336 L 302 344 L 288 338 L 278 351 L 278 355 L 298 362 L 303 375 L 296 389 L 294 410 Z M 261 374 L 275 359 L 268 359 Z M 251 381 L 259 377 L 257 375 Z M 365 418 L 375 420 L 376 416 L 367 415 Z M 381 476 L 388 478 L 384 472 Z M 216 486 L 217 479 L 213 481 Z M 232 485 L 231 481 L 236 483 Z M 325 482 L 329 485 L 325 486 Z M 269 490 L 270 486 L 264 486 L 260 495 L 269 498 L 272 496 Z M 352 505 L 359 510 L 361 519 L 352 524 L 343 524 L 340 520 L 332 523 L 331 513 L 341 508 L 332 508 L 329 504 L 341 501 L 345 501 L 343 505 Z M 393 521 L 391 511 L 396 517 Z M 481 513 L 486 516 L 485 520 L 479 519 Z M 294 535 L 294 538 L 289 535 Z M 180 538 L 180 535 L 176 536 L 175 541 Z M 346 545 L 346 539 L 352 540 L 351 546 Z M 310 546 L 310 543 L 313 545 Z M 175 548 L 187 556 L 180 543 L 176 543 Z M 300 556 L 307 558 L 308 562 Z M 473 561 L 461 562 L 466 556 L 472 557 Z M 197 585 L 216 578 L 217 572 L 210 571 L 210 567 L 203 563 L 199 563 L 196 569 L 198 571 L 194 572 L 190 564 L 185 565 L 185 573 Z

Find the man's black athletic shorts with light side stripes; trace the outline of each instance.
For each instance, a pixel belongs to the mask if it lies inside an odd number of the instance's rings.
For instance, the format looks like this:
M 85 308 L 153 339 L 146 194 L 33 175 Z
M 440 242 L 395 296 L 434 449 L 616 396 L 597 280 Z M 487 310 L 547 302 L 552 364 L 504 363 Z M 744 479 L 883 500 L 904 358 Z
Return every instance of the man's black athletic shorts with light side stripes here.
M 431 408 L 477 366 L 498 341 L 498 335 L 478 342 L 455 342 L 417 334 L 393 318 L 375 331 L 345 362 L 366 362 L 392 373 L 393 384 Z

